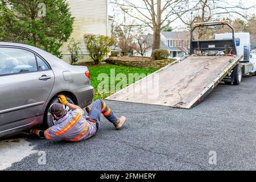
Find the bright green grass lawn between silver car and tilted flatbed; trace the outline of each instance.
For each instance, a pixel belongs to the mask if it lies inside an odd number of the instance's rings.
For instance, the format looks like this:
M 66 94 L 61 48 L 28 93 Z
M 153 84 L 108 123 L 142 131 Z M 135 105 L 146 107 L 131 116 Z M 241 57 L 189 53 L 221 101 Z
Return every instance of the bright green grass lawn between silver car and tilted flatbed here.
M 92 86 L 95 89 L 94 100 L 97 100 L 99 98 L 104 99 L 113 94 L 113 93 L 109 93 L 108 91 L 103 93 L 98 92 L 98 89 L 97 89 L 98 84 L 102 82 L 102 80 L 98 80 L 98 75 L 100 75 L 101 73 L 105 73 L 106 75 L 109 76 L 109 87 L 110 87 L 110 70 L 111 69 L 114 69 L 115 76 L 117 76 L 119 73 L 123 73 L 124 75 L 127 76 L 127 79 L 129 78 L 129 73 L 137 73 L 139 75 L 144 73 L 148 75 L 148 73 L 153 73 L 158 70 L 157 68 L 147 69 L 147 68 L 125 67 L 125 66 L 118 66 L 118 65 L 100 65 L 100 66 L 92 66 L 92 67 L 89 66 L 88 69 L 90 71 Z M 115 83 L 115 85 L 117 85 L 118 82 L 121 81 L 121 80 L 118 80 L 116 77 L 111 77 L 111 80 Z M 135 82 L 135 79 L 133 79 L 133 82 Z M 129 81 L 127 80 L 126 86 L 128 85 L 129 85 Z M 114 91 L 117 92 L 118 90 L 114 90 Z

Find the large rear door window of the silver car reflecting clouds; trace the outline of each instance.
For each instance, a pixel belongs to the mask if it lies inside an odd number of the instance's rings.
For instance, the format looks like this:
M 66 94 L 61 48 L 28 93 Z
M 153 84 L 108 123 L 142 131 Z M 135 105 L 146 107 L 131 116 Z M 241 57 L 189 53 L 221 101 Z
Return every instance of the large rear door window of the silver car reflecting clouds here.
M 19 48 L 0 47 L 0 76 L 38 71 L 35 54 Z

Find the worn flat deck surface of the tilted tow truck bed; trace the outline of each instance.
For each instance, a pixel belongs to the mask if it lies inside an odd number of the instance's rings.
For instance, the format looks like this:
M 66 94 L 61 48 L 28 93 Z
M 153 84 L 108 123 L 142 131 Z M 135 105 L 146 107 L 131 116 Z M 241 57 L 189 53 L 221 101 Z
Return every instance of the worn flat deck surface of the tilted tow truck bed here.
M 106 100 L 191 109 L 241 60 L 236 56 L 188 56 L 135 82 Z

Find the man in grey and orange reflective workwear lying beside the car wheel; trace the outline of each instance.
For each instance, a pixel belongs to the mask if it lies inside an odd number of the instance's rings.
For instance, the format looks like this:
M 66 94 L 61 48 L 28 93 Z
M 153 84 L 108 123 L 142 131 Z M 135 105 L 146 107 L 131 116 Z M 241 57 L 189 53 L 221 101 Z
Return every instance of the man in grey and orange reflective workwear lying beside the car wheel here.
M 125 117 L 117 118 L 106 103 L 102 100 L 94 102 L 92 108 L 86 107 L 88 116 L 84 116 L 84 111 L 76 105 L 70 104 L 65 96 L 59 95 L 60 103 L 52 104 L 49 107 L 49 113 L 55 119 L 55 125 L 46 131 L 32 129 L 31 133 L 46 139 L 64 139 L 72 142 L 78 142 L 88 139 L 96 134 L 100 126 L 101 113 L 113 123 L 115 129 L 120 129 L 125 122 Z M 64 109 L 67 105 L 72 111 L 67 112 Z

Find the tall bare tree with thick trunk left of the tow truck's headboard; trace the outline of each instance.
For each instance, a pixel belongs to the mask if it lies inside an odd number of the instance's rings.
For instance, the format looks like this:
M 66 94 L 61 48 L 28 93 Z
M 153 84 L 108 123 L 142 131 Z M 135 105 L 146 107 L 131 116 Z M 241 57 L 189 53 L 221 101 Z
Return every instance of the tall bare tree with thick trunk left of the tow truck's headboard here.
M 163 28 L 174 22 L 179 16 L 187 11 L 195 9 L 194 4 L 191 9 L 187 6 L 188 0 L 113 0 L 115 5 L 128 14 L 131 18 L 137 19 L 139 26 L 148 26 L 152 29 L 153 45 L 152 49 L 160 48 L 160 32 Z M 179 14 L 179 16 L 177 16 Z M 133 26 L 138 26 L 134 24 Z

